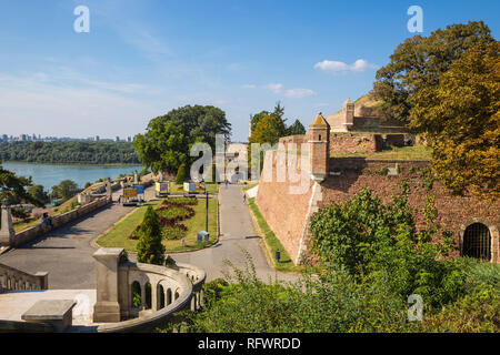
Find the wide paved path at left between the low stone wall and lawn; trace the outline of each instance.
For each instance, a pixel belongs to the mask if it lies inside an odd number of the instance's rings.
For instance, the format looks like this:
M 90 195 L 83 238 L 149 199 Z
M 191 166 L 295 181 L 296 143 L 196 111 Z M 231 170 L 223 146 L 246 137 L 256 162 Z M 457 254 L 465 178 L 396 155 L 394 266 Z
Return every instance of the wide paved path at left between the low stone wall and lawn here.
M 113 193 L 113 200 L 121 192 Z M 36 241 L 0 255 L 0 263 L 24 272 L 49 272 L 49 288 L 96 287 L 96 250 L 90 242 L 133 207 L 108 204 Z

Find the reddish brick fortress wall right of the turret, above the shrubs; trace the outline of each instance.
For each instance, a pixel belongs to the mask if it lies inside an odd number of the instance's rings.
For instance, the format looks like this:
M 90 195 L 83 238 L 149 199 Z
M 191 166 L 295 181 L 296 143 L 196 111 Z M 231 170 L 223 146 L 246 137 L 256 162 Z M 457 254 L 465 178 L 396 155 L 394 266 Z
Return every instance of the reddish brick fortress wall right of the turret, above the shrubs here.
M 397 175 L 382 175 L 383 168 L 396 171 L 399 165 L 400 173 Z M 490 226 L 490 231 L 498 231 L 500 225 L 500 202 L 492 203 L 480 201 L 472 195 L 453 196 L 440 182 L 434 181 L 429 190 L 419 172 L 428 165 L 423 161 L 363 161 L 362 159 L 330 160 L 330 168 L 336 175 L 330 175 L 322 184 L 322 201 L 320 206 L 332 203 L 346 202 L 362 187 L 369 187 L 382 199 L 390 202 L 393 194 L 398 194 L 398 187 L 402 181 L 410 186 L 409 203 L 416 211 L 416 221 L 422 226 L 424 217 L 427 196 L 436 196 L 434 205 L 438 210 L 437 223 L 443 230 L 452 232 L 456 242 L 456 251 L 452 256 L 460 255 L 461 237 L 466 226 L 480 222 Z M 339 175 L 340 173 L 340 175 Z M 497 232 L 498 234 L 498 232 Z M 498 235 L 492 235 L 492 260 L 498 262 L 499 243 Z M 439 237 L 437 241 L 440 240 Z

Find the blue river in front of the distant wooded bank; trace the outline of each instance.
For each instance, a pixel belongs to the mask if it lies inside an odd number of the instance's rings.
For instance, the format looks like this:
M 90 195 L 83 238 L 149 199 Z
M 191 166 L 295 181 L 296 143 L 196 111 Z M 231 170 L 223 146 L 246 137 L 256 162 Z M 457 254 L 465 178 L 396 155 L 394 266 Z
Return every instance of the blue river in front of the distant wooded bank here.
M 79 165 L 79 164 L 36 164 L 22 162 L 2 162 L 3 169 L 14 172 L 18 176 L 31 176 L 34 184 L 51 190 L 63 180 L 72 180 L 80 187 L 87 182 L 96 182 L 101 178 L 116 179 L 120 174 L 140 172 L 141 165 Z

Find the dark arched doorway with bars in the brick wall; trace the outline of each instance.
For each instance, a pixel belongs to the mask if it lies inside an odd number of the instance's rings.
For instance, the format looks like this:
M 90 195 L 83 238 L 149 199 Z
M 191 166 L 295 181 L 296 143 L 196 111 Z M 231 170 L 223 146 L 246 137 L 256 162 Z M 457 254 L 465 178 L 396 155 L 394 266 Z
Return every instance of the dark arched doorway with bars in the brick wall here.
M 482 223 L 472 223 L 463 233 L 462 255 L 491 261 L 491 234 Z

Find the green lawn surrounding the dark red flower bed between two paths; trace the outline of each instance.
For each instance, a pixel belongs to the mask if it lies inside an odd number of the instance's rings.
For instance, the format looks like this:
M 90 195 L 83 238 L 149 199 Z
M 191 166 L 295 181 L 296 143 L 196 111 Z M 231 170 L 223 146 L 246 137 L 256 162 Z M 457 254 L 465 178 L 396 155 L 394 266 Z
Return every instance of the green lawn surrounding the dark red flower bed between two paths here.
M 133 230 L 142 222 L 146 210 L 149 205 L 157 207 L 164 199 L 151 200 L 129 214 L 124 220 L 118 222 L 110 231 L 101 236 L 97 244 L 102 247 L 124 247 L 129 252 L 136 252 L 137 240 L 129 239 Z M 176 199 L 170 199 L 176 200 Z M 194 210 L 194 216 L 182 222 L 188 227 L 186 236 L 186 246 L 182 246 L 180 240 L 163 240 L 167 252 L 189 251 L 202 248 L 213 244 L 217 241 L 217 209 L 218 200 L 209 199 L 209 233 L 208 243 L 197 244 L 197 233 L 206 229 L 206 200 L 199 199 L 198 204 L 191 206 Z

